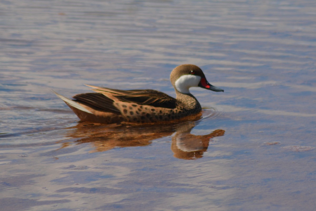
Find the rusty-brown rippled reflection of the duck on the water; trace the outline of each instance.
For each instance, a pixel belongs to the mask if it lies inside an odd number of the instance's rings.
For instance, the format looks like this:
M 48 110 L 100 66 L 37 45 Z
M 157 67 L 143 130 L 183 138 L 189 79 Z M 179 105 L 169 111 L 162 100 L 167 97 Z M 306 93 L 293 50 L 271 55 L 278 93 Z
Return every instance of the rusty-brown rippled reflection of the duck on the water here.
M 208 135 L 193 135 L 191 130 L 201 119 L 201 115 L 187 118 L 181 122 L 163 124 L 110 124 L 81 122 L 72 127 L 69 136 L 79 138 L 77 143 L 92 143 L 93 152 L 102 152 L 117 147 L 146 146 L 152 140 L 171 136 L 171 150 L 175 158 L 202 158 L 207 151 L 209 141 L 216 136 L 224 135 L 224 130 L 215 130 Z M 66 147 L 65 143 L 63 147 Z M 63 148 L 62 147 L 62 148 Z

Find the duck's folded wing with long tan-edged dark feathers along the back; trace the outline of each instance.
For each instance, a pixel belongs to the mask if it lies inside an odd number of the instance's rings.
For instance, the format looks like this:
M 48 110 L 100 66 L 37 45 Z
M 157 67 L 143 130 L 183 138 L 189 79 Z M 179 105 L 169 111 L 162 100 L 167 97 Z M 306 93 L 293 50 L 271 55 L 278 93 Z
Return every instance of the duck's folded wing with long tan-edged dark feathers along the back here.
M 117 90 L 104 87 L 90 86 L 93 91 L 111 98 L 113 101 L 136 103 L 159 108 L 174 109 L 177 100 L 163 92 L 156 90 Z

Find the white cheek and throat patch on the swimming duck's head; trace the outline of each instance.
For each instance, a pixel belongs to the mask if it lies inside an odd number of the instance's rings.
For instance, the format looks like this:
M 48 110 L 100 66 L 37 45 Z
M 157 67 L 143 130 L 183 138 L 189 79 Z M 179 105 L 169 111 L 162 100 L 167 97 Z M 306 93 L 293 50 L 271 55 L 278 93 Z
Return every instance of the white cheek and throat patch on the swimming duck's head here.
M 196 87 L 200 83 L 200 81 L 200 76 L 183 75 L 174 82 L 174 86 L 179 92 L 183 94 L 189 94 L 189 88 Z

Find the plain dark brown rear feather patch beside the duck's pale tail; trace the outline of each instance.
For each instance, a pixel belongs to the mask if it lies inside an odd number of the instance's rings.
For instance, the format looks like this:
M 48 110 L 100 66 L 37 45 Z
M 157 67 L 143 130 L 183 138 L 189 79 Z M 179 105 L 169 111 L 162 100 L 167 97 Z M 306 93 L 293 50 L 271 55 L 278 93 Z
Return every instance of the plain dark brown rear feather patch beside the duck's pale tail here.
M 113 100 L 100 93 L 83 93 L 73 96 L 77 101 L 93 106 L 94 109 L 111 112 L 114 114 L 121 114 L 119 109 L 113 106 Z

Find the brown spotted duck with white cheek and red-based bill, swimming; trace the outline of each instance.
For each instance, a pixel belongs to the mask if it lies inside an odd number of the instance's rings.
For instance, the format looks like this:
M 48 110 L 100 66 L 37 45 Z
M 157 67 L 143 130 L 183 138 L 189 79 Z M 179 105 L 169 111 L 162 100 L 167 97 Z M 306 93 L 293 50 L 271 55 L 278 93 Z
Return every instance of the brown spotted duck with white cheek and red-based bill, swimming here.
M 174 68 L 170 81 L 176 92 L 173 98 L 157 90 L 119 90 L 86 85 L 94 93 L 83 93 L 69 99 L 54 92 L 82 122 L 93 123 L 155 123 L 176 121 L 201 113 L 202 107 L 189 88 L 223 92 L 211 85 L 196 65 L 184 64 Z

